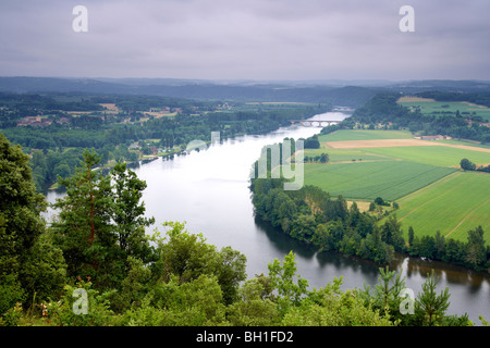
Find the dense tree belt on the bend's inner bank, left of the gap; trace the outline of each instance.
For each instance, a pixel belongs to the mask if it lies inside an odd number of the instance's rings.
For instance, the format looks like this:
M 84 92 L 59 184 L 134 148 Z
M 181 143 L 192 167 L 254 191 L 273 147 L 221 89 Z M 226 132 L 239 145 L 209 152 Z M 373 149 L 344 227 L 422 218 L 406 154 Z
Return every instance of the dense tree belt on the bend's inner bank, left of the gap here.
M 404 248 L 404 238 L 396 219 L 380 232 L 376 220 L 360 213 L 357 204 L 347 209 L 342 196 L 336 199 L 315 186 L 287 191 L 282 179 L 256 178 L 250 189 L 257 214 L 280 226 L 295 239 L 310 243 L 319 251 L 339 250 L 380 264 L 393 259 L 394 248 Z

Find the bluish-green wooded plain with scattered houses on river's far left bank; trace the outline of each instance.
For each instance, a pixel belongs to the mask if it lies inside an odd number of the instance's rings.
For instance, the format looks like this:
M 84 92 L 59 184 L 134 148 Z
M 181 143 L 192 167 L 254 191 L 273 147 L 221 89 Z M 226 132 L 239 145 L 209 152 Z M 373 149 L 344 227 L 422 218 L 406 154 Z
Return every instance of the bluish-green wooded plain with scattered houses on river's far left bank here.
M 101 104 L 114 103 L 118 113 Z M 221 101 L 199 101 L 158 96 L 88 94 L 0 94 L 0 124 L 12 142 L 32 156 L 34 179 L 39 191 L 57 182 L 58 175 L 74 174 L 84 149 L 95 149 L 109 161 L 139 160 L 128 147 L 148 139 L 161 148 L 184 147 L 192 140 L 210 141 L 211 132 L 221 139 L 244 134 L 266 134 L 289 125 L 289 120 L 306 119 L 330 110 L 329 104 L 245 105 L 222 109 Z M 151 109 L 177 110 L 174 116 L 154 117 Z M 73 115 L 68 111 L 86 113 Z M 19 126 L 24 117 L 41 115 L 46 124 Z M 60 122 L 63 120 L 64 122 Z M 143 150 L 143 149 L 142 149 Z

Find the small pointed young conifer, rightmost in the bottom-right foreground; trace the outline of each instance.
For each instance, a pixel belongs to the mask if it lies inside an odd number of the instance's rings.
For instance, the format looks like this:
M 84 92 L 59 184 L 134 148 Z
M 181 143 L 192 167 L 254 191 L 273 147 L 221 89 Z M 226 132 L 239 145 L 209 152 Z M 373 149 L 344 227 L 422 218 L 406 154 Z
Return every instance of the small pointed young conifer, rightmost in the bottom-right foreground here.
M 427 279 L 422 284 L 422 291 L 418 294 L 415 307 L 424 325 L 434 326 L 442 322 L 444 313 L 450 306 L 450 294 L 446 287 L 440 295 L 437 295 L 438 278 L 434 278 L 433 270 L 427 274 Z

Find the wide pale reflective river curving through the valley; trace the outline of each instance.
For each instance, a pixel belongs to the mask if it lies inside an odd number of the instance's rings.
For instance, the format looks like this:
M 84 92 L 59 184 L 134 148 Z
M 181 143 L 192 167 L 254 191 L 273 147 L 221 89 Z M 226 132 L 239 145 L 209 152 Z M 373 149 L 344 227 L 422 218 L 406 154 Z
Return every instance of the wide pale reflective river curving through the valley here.
M 329 112 L 309 120 L 340 121 L 347 116 Z M 254 215 L 249 173 L 261 148 L 280 142 L 284 137 L 306 138 L 320 129 L 295 125 L 268 135 L 222 140 L 204 151 L 140 165 L 134 171 L 148 185 L 143 200 L 147 215 L 156 219 L 156 224 L 147 232 L 152 233 L 155 228 L 163 232 L 161 223 L 166 221 L 185 221 L 189 232 L 201 233 L 209 244 L 218 248 L 231 246 L 243 252 L 247 257 L 248 277 L 267 274 L 268 262 L 282 260 L 293 250 L 297 273 L 308 279 L 311 288 L 323 287 L 340 276 L 344 288 L 363 288 L 365 284 L 372 287 L 378 282 L 378 265 L 335 252 L 318 253 Z M 60 195 L 49 191 L 48 201 L 54 201 Z M 404 256 L 399 256 L 391 269 L 403 273 L 406 286 L 415 295 L 433 269 L 439 276 L 439 291 L 450 289 L 449 314 L 468 313 L 476 324 L 480 324 L 479 314 L 490 319 L 490 277 L 487 274 Z

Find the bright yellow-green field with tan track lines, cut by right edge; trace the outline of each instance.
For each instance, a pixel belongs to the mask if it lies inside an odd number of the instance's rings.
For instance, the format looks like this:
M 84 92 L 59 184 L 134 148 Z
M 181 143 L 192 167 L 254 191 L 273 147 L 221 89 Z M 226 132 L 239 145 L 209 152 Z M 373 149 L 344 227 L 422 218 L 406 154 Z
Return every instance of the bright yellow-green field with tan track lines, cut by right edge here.
M 490 239 L 490 175 L 457 172 L 399 201 L 396 212 L 405 233 L 442 235 L 466 240 L 469 229 L 481 225 Z

